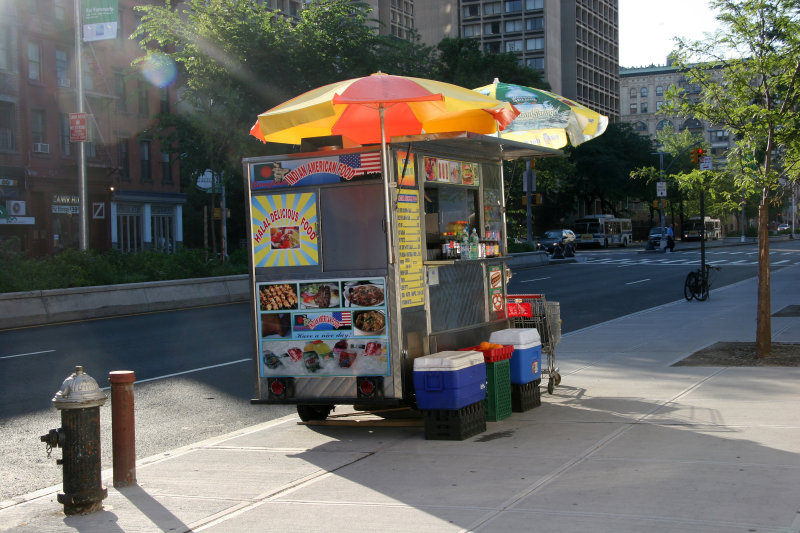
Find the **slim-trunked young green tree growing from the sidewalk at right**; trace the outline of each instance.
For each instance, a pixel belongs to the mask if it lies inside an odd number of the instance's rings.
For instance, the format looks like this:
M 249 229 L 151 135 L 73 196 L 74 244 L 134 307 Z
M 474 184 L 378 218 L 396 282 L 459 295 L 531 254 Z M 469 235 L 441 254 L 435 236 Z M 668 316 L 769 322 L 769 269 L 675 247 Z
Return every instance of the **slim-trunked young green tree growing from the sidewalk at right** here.
M 675 64 L 687 86 L 667 92 L 667 112 L 705 120 L 734 139 L 728 168 L 736 187 L 760 195 L 756 353 L 768 357 L 769 206 L 800 161 L 800 1 L 712 0 L 721 29 L 678 40 Z

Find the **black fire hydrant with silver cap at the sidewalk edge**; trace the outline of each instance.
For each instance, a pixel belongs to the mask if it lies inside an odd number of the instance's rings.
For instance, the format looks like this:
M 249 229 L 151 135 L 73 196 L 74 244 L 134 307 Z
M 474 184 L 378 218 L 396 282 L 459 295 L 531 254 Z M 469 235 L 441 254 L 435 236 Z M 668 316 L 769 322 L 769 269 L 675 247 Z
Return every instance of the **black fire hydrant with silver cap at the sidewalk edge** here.
M 56 464 L 64 467 L 64 492 L 58 494 L 64 514 L 99 511 L 108 496 L 100 468 L 100 406 L 105 401 L 105 393 L 82 366 L 75 367 L 53 397 L 61 411 L 61 427 L 42 435 L 41 441 L 47 444 L 48 456 L 53 448 L 63 449 Z

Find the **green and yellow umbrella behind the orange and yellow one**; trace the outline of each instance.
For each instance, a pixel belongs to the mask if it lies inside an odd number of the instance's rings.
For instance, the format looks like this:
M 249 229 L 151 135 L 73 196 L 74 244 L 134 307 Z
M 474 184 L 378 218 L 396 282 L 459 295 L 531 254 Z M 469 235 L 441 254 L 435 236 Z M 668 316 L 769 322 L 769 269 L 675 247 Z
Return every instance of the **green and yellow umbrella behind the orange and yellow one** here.
M 494 83 L 473 89 L 501 102 L 510 102 L 520 114 L 500 133 L 500 137 L 547 148 L 578 146 L 603 134 L 608 117 L 578 102 L 542 89 Z

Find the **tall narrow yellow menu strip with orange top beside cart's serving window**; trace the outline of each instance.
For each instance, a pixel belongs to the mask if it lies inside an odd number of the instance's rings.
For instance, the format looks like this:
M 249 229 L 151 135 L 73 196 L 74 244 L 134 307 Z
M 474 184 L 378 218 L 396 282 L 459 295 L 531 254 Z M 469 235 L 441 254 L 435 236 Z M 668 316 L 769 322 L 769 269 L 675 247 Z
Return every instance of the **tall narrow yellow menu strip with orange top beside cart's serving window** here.
M 397 153 L 397 247 L 400 266 L 400 305 L 413 307 L 425 303 L 425 272 L 422 266 L 422 226 L 419 190 L 414 174 L 414 155 Z

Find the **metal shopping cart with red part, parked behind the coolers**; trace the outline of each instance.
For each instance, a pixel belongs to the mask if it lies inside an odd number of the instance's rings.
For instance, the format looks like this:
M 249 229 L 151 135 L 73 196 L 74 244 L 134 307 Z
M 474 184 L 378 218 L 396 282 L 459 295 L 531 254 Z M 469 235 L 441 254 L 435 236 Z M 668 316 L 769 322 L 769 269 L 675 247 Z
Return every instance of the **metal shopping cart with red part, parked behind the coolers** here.
M 556 344 L 561 340 L 561 305 L 548 302 L 544 294 L 509 294 L 506 308 L 515 328 L 536 328 L 539 332 L 542 351 L 547 355 L 542 374 L 548 376 L 547 392 L 553 394 L 556 385 L 561 383 L 555 355 Z

